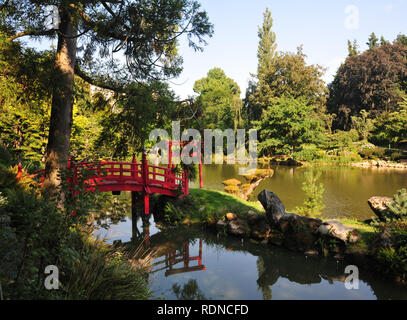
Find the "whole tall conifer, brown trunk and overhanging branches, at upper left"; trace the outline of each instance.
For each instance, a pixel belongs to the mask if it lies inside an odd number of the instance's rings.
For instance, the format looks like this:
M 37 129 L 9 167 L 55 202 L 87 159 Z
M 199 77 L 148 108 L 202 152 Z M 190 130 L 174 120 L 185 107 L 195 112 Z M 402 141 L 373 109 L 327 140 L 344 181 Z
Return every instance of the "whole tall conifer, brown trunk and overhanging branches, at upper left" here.
M 50 6 L 57 23 L 49 26 Z M 194 0 L 3 0 L 1 29 L 10 40 L 57 37 L 45 186 L 59 184 L 57 172 L 69 154 L 74 75 L 102 88 L 125 91 L 130 79 L 168 78 L 181 72 L 178 38 L 201 50 L 212 25 Z M 128 72 L 113 55 L 126 57 Z M 96 56 L 99 55 L 99 58 Z M 99 63 L 97 63 L 99 62 Z M 92 76 L 90 76 L 92 74 Z

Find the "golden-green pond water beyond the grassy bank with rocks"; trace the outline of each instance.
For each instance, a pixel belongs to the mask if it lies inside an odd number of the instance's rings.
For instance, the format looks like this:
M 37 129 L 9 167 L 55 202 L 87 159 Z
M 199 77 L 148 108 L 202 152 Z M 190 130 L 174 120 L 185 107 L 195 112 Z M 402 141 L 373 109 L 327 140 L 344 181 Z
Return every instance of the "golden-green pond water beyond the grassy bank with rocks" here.
M 307 168 L 271 166 L 274 176 L 262 181 L 253 196 L 264 189 L 273 191 L 281 199 L 288 212 L 295 212 L 301 206 L 305 194 L 302 191 L 304 173 Z M 357 167 L 319 167 L 314 170 L 321 172 L 319 182 L 323 184 L 324 204 L 323 218 L 355 218 L 366 220 L 373 213 L 367 204 L 372 196 L 392 197 L 398 190 L 407 188 L 407 170 L 389 168 L 357 168 Z M 236 178 L 246 183 L 239 176 L 237 165 L 206 165 L 203 166 L 204 187 L 223 190 L 222 181 Z M 198 187 L 193 182 L 191 187 Z

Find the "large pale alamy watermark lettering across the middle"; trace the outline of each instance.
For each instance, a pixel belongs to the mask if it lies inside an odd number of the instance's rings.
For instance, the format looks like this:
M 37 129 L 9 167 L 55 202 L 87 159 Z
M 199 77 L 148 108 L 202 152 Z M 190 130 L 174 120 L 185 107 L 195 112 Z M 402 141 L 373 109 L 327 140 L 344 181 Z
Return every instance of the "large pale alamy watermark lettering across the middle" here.
M 239 174 L 244 175 L 257 168 L 257 130 L 248 132 L 248 151 L 246 150 L 246 130 L 233 129 L 204 130 L 201 133 L 196 129 L 186 129 L 181 134 L 180 122 L 172 122 L 171 163 L 180 164 L 223 164 L 224 141 L 226 140 L 226 163 L 249 164 L 246 168 L 239 168 Z M 169 134 L 164 129 L 151 131 L 149 140 L 157 142 L 149 151 L 149 160 L 154 164 L 169 164 Z M 215 142 L 215 143 L 213 143 Z M 202 154 L 203 144 L 203 154 Z M 215 152 L 213 153 L 213 150 Z M 203 159 L 203 160 L 202 160 Z

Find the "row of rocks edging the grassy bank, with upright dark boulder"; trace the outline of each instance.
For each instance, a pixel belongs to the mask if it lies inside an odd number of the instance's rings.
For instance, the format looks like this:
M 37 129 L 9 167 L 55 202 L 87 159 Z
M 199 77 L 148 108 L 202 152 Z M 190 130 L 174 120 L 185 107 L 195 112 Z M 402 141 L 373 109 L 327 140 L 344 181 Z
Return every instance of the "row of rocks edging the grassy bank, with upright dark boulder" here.
M 217 221 L 218 232 L 312 255 L 333 254 L 343 259 L 347 254 L 355 254 L 348 248 L 361 239 L 358 230 L 338 220 L 322 221 L 287 213 L 281 200 L 271 191 L 262 191 L 258 199 L 266 211 L 265 215 L 249 211 L 247 219 L 242 219 L 228 213 Z

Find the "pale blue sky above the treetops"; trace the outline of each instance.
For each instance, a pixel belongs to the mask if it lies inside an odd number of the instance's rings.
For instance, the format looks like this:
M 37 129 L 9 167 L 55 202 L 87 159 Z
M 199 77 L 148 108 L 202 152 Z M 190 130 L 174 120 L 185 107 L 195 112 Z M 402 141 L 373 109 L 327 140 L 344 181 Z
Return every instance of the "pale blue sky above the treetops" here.
M 328 70 L 330 82 L 347 56 L 347 40 L 356 39 L 360 50 L 366 49 L 372 32 L 393 40 L 407 34 L 406 0 L 201 0 L 215 26 L 214 36 L 204 51 L 194 52 L 181 41 L 184 71 L 171 87 L 181 97 L 193 95 L 196 80 L 214 68 L 222 68 L 234 79 L 244 96 L 250 73 L 257 69 L 257 28 L 268 7 L 274 20 L 277 50 L 296 51 L 303 45 L 307 62 Z M 358 23 L 354 19 L 358 11 Z M 345 12 L 346 11 L 346 12 Z M 353 20 L 349 20 L 353 19 Z M 350 21 L 350 25 L 349 25 Z

